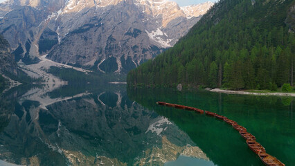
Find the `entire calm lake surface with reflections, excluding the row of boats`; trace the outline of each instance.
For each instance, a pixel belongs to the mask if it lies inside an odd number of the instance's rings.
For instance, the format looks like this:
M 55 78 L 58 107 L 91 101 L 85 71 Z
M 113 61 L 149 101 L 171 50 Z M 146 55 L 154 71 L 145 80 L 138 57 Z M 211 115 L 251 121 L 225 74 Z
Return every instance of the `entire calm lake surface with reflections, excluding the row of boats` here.
M 295 165 L 292 98 L 125 85 L 22 86 L 0 98 L 0 165 L 263 165 L 220 113 Z

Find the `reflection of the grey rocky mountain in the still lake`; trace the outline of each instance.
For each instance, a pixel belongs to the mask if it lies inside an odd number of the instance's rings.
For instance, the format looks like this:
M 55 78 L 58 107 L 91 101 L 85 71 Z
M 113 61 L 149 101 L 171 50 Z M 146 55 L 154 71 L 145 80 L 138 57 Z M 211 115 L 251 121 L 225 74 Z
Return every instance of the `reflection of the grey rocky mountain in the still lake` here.
M 44 89 L 1 96 L 1 163 L 164 165 L 190 156 L 213 165 L 170 120 L 129 100 L 125 85 Z

